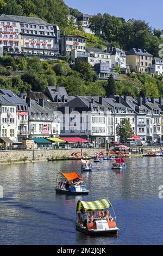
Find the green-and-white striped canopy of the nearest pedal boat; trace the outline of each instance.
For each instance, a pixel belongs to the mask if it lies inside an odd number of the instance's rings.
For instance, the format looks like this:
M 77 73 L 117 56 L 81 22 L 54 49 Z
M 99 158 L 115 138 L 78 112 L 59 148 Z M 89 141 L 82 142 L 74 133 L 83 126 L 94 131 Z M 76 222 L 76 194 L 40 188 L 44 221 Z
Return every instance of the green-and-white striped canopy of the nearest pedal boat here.
M 82 210 L 83 208 L 87 211 L 91 210 L 103 210 L 105 208 L 111 207 L 111 203 L 108 199 L 101 199 L 93 202 L 85 202 L 85 201 L 78 201 L 77 203 L 77 211 Z

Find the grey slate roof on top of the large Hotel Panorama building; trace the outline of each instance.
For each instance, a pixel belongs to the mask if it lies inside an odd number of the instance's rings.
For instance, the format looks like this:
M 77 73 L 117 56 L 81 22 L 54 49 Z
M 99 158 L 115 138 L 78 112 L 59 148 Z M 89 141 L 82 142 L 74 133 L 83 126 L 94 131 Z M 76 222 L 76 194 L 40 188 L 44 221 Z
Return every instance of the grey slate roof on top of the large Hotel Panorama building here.
M 6 15 L 2 14 L 0 16 L 1 21 L 15 21 L 20 23 L 30 23 L 36 25 L 48 25 L 52 26 L 51 24 L 47 23 L 46 21 L 41 20 L 37 17 L 26 17 L 26 16 L 17 16 L 17 15 Z

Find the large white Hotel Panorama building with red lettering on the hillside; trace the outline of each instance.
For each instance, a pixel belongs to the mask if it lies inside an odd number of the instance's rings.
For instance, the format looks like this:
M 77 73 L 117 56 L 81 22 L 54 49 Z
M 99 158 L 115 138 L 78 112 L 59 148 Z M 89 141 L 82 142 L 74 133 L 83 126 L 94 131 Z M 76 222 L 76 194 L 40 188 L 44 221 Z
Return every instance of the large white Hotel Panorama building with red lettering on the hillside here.
M 59 28 L 36 17 L 0 16 L 1 52 L 59 54 Z

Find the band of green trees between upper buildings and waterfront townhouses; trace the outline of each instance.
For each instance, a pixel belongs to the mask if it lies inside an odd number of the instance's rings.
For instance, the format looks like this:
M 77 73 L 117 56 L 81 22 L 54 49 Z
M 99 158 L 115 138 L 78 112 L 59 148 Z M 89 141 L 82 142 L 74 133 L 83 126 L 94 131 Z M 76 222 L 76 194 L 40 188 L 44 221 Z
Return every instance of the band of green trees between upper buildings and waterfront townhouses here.
M 146 74 L 119 75 L 121 81 L 114 81 L 117 95 L 163 96 L 162 77 Z M 46 86 L 65 86 L 70 95 L 106 96 L 109 83 L 99 81 L 89 63 L 79 62 L 76 68 L 64 60 L 47 60 L 39 57 L 0 57 L 1 88 L 15 93 L 28 90 L 42 91 Z

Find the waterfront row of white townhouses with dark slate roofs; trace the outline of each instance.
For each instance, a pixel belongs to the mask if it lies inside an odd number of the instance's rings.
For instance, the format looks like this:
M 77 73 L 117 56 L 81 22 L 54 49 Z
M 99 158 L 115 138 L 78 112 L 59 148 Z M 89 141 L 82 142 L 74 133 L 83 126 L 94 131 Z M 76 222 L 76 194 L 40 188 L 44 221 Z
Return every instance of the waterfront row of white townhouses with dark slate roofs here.
M 16 95 L 0 89 L 0 138 L 13 144 L 31 137 L 79 137 L 95 145 L 119 141 L 116 127 L 124 118 L 133 133 L 163 140 L 163 100 L 132 96 L 68 96 L 64 87 Z

